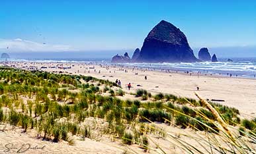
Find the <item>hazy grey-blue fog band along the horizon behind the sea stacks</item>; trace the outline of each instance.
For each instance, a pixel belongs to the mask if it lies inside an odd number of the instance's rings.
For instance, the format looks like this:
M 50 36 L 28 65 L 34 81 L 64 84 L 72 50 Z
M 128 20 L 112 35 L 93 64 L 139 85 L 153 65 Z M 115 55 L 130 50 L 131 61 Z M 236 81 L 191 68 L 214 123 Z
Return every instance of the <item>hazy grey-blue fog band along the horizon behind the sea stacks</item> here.
M 62 59 L 62 58 L 92 58 L 92 59 L 111 59 L 114 55 L 124 55 L 128 53 L 130 57 L 135 49 L 117 49 L 117 50 L 92 50 L 92 51 L 12 51 L 1 53 L 9 53 L 14 59 Z M 198 57 L 200 48 L 192 48 L 194 55 Z M 256 47 L 208 47 L 210 55 L 216 54 L 218 58 L 239 58 L 239 57 L 256 57 Z

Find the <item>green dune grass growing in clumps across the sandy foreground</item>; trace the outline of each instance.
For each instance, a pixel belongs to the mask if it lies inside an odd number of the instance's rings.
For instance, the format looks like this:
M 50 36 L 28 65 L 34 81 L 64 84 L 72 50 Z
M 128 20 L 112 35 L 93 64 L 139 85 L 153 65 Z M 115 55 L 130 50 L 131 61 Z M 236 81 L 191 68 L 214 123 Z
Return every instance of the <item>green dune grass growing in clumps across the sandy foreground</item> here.
M 96 126 L 85 125 L 89 118 L 106 123 L 100 134 L 112 134 L 125 144 L 137 143 L 148 149 L 147 134 L 166 136 L 150 122 L 173 124 L 179 128 L 218 134 L 218 120 L 202 101 L 137 90 L 144 101 L 118 99 L 125 92 L 115 83 L 91 76 L 52 74 L 39 71 L 0 68 L 0 122 L 19 126 L 27 132 L 36 129 L 43 140 L 58 142 L 95 138 Z M 97 85 L 97 86 L 96 86 Z M 26 100 L 26 101 L 24 101 Z M 256 132 L 256 120 L 240 120 L 237 109 L 210 103 L 226 124 L 238 126 L 243 136 Z M 140 130 L 138 130 L 140 128 Z

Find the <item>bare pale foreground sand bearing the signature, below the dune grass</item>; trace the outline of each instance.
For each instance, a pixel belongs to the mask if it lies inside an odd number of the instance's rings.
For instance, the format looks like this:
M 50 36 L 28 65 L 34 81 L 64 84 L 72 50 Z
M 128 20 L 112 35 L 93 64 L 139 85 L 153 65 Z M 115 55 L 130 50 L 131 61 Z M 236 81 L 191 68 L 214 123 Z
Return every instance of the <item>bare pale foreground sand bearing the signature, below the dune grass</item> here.
M 122 153 L 124 151 L 110 146 L 107 141 L 99 142 L 86 138 L 85 141 L 75 140 L 73 146 L 64 141 L 59 143 L 42 141 L 42 139 L 34 138 L 33 133 L 24 134 L 21 131 L 15 129 L 0 132 L 0 153 Z

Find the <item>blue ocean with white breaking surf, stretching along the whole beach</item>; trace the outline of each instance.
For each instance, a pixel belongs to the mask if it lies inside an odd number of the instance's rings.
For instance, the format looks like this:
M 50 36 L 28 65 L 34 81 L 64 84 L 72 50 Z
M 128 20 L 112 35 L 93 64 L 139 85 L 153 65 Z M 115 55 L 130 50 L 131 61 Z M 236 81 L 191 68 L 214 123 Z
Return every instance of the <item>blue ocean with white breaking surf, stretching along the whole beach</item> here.
M 216 63 L 120 63 L 112 64 L 110 59 L 103 58 L 27 58 L 9 59 L 8 61 L 34 61 L 34 62 L 58 62 L 58 63 L 95 63 L 107 65 L 120 65 L 138 68 L 151 68 L 155 70 L 172 70 L 193 72 L 201 74 L 215 74 L 222 76 L 237 76 L 242 78 L 255 78 L 256 57 L 255 58 L 232 58 L 233 62 L 228 62 L 226 58 L 219 58 Z M 5 61 L 5 59 L 1 59 Z

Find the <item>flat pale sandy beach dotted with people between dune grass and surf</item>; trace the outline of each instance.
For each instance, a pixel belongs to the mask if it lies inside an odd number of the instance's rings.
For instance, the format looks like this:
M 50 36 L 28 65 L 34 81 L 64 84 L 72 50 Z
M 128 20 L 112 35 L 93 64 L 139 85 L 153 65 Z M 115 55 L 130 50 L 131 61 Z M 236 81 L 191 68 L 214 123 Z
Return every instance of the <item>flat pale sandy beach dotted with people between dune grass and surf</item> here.
M 194 91 L 198 91 L 205 99 L 220 99 L 229 107 L 239 109 L 241 115 L 255 117 L 256 82 L 249 78 L 232 78 L 228 76 L 211 76 L 210 74 L 187 74 L 185 72 L 154 71 L 141 68 L 128 68 L 124 66 L 104 66 L 85 63 L 28 63 L 13 62 L 8 66 L 26 70 L 43 70 L 47 72 L 65 72 L 83 74 L 104 80 L 122 83 L 122 88 L 128 90 L 126 85 L 132 84 L 131 92 L 145 89 L 151 93 L 171 93 L 181 97 L 196 99 Z M 147 80 L 145 80 L 147 76 Z M 139 86 L 140 85 L 140 86 Z M 199 90 L 196 90 L 196 87 Z

